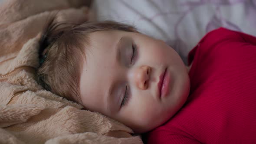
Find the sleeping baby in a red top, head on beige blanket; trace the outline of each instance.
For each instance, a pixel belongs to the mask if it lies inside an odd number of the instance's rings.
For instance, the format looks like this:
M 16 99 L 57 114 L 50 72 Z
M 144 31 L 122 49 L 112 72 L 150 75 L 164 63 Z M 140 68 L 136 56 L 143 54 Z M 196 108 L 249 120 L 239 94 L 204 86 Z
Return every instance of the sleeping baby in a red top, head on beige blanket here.
M 113 21 L 49 20 L 37 80 L 149 144 L 256 143 L 256 38 L 219 28 L 188 55 Z

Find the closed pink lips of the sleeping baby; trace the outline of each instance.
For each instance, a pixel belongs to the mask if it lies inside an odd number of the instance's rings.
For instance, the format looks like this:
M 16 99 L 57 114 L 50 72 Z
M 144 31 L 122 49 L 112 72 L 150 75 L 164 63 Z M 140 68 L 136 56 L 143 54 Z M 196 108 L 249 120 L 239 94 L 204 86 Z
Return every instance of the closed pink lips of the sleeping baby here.
M 168 69 L 166 68 L 159 77 L 158 91 L 159 91 L 160 98 L 167 96 L 170 90 L 169 85 L 170 85 L 170 74 L 168 72 Z

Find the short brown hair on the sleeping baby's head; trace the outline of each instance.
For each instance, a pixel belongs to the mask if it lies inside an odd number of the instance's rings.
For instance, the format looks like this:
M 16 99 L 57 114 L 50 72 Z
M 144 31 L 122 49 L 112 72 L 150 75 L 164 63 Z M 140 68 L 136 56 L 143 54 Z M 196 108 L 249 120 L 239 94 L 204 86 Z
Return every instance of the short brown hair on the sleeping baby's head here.
M 74 24 L 54 19 L 53 16 L 49 19 L 39 41 L 37 82 L 56 95 L 79 102 L 82 61 L 84 49 L 89 46 L 89 34 L 103 30 L 137 31 L 114 21 Z

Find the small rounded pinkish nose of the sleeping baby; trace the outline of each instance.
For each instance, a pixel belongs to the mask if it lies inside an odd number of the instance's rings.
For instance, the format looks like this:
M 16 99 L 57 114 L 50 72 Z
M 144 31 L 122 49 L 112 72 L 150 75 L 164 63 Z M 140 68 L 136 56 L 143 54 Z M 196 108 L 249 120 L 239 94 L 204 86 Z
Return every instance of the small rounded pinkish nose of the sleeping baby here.
M 138 88 L 147 89 L 151 74 L 151 68 L 149 66 L 141 66 L 137 69 L 135 74 L 135 82 Z

